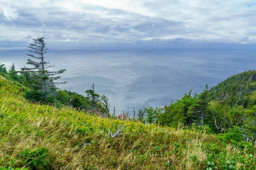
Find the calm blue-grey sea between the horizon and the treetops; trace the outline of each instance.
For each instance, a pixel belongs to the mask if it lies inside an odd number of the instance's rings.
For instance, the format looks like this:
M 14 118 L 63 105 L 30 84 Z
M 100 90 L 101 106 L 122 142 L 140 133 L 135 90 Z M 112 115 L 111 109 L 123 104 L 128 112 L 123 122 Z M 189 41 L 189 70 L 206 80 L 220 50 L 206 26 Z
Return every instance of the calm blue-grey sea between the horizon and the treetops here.
M 26 65 L 27 48 L 0 49 L 0 62 L 8 67 Z M 146 106 L 163 107 L 192 89 L 218 85 L 227 77 L 255 69 L 256 51 L 198 51 L 162 49 L 51 48 L 46 60 L 54 69 L 66 68 L 61 89 L 86 95 L 95 91 L 109 98 L 111 110 L 137 111 Z

